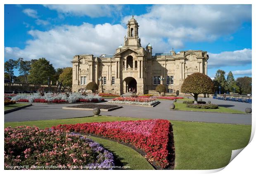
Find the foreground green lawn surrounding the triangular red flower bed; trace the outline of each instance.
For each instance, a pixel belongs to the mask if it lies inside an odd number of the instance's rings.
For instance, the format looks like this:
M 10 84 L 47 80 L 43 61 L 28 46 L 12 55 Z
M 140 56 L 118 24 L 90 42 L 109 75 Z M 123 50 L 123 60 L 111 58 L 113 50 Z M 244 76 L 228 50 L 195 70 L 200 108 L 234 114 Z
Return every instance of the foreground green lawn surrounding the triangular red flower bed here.
M 141 118 L 113 117 L 113 116 L 93 116 L 85 118 L 71 118 L 48 121 L 26 121 L 7 122 L 7 126 L 36 125 L 39 128 L 50 128 L 52 125 L 102 122 L 102 121 L 126 121 L 142 120 Z M 171 121 L 175 142 L 175 169 L 217 169 L 228 164 L 232 150 L 243 148 L 249 142 L 251 136 L 251 125 L 235 125 L 220 123 L 201 123 L 187 121 Z M 98 139 L 103 146 L 109 147 L 116 156 L 126 161 L 125 165 L 134 166 L 133 158 L 129 157 L 127 151 L 122 148 L 115 148 Z M 114 143 L 115 144 L 115 143 Z M 111 149 L 110 149 L 111 148 Z M 126 155 L 125 155 L 125 154 Z M 140 160 L 139 158 L 137 158 Z M 147 166 L 135 162 L 140 169 Z

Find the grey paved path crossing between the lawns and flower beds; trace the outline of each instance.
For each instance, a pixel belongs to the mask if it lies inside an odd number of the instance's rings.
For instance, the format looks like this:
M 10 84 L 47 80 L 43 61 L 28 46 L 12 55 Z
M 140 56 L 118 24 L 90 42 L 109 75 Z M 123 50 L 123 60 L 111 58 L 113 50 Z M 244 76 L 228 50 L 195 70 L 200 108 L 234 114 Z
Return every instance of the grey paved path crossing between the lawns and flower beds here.
M 251 107 L 251 104 L 223 101 L 210 98 L 202 98 L 204 101 L 211 100 L 214 104 L 220 104 L 225 107 L 244 111 L 246 107 Z M 107 99 L 109 100 L 109 99 Z M 169 106 L 171 100 L 160 100 L 160 104 L 156 107 L 140 107 L 116 104 L 123 106 L 121 109 L 114 111 L 102 111 L 102 115 L 109 116 L 127 116 L 136 118 L 162 118 L 168 120 L 180 121 L 198 121 L 198 122 L 212 122 L 212 123 L 234 123 L 251 125 L 251 114 L 220 114 L 220 113 L 206 113 L 206 112 L 191 112 L 191 111 L 175 111 L 170 110 Z M 108 104 L 103 102 L 100 104 Z M 59 118 L 75 118 L 91 116 L 92 111 L 80 111 L 62 109 L 62 107 L 72 106 L 78 104 L 33 104 L 31 107 L 20 109 L 5 114 L 5 122 L 10 121 L 36 121 L 49 120 Z

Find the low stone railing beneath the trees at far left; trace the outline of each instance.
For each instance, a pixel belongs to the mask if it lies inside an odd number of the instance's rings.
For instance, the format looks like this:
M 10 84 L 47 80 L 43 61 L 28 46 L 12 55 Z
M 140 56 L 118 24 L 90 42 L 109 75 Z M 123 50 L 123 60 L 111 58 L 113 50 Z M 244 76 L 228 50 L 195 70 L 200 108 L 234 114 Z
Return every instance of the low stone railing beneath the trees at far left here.
M 36 92 L 39 88 L 44 88 L 45 91 L 57 90 L 57 85 L 40 85 L 40 84 L 24 84 L 24 83 L 5 83 L 5 93 L 31 93 Z

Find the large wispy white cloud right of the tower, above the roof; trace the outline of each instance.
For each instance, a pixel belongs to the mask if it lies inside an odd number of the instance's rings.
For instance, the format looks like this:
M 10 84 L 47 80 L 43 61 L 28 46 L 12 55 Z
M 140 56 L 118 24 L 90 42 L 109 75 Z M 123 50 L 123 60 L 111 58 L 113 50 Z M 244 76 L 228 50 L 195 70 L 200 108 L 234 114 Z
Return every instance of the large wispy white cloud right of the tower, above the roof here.
M 130 18 L 124 17 L 123 25 Z M 221 36 L 232 39 L 229 35 L 243 22 L 251 21 L 251 5 L 154 5 L 147 14 L 134 18 L 144 45 L 164 38 L 167 50 L 177 50 L 185 42 L 209 42 Z

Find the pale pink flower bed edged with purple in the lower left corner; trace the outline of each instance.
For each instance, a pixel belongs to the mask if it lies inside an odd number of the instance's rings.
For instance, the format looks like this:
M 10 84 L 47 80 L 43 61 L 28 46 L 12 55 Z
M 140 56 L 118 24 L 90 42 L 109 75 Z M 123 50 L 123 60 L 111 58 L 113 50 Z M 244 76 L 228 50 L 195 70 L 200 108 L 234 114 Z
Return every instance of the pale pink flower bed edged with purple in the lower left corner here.
M 113 167 L 113 154 L 80 134 L 20 126 L 5 128 L 5 169 L 7 166 L 44 166 L 57 169 L 104 169 Z M 23 168 L 22 168 L 23 169 Z M 51 168 L 48 168 L 51 169 Z

